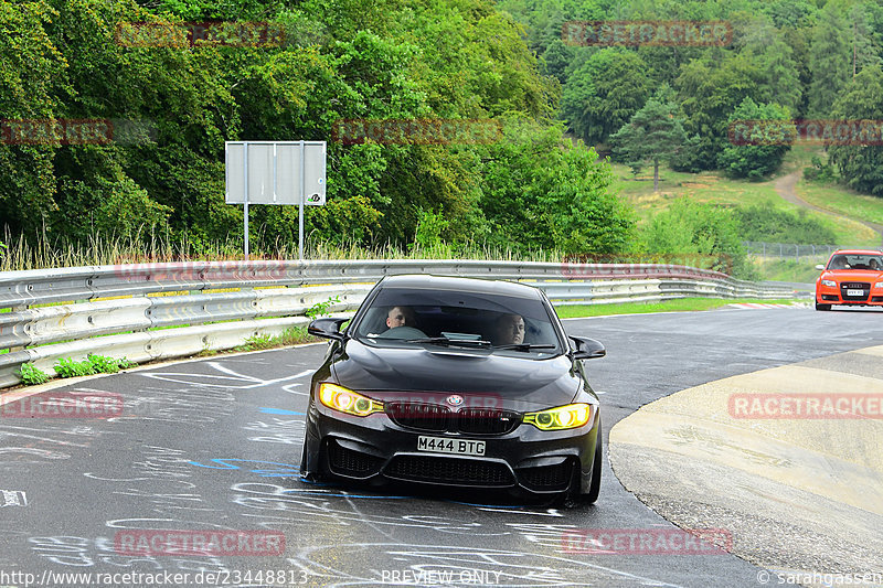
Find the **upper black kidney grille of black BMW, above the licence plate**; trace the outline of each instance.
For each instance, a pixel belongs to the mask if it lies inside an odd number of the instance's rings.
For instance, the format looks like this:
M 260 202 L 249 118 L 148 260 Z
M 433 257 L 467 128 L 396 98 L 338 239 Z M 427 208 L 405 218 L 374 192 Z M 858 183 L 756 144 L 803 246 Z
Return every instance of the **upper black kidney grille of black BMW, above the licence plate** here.
M 497 408 L 464 408 L 425 403 L 387 403 L 386 415 L 401 427 L 435 432 L 506 435 L 521 424 L 521 415 Z

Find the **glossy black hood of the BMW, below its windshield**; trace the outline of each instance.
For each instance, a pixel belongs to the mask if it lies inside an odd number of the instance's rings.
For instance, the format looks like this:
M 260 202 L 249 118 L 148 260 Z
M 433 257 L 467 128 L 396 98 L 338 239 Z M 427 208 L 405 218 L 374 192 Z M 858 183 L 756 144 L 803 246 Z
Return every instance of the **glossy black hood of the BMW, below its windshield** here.
M 571 403 L 581 378 L 566 356 L 517 357 L 442 346 L 375 348 L 348 340 L 332 364 L 337 381 L 379 400 L 445 404 L 464 397 L 464 407 L 534 410 Z

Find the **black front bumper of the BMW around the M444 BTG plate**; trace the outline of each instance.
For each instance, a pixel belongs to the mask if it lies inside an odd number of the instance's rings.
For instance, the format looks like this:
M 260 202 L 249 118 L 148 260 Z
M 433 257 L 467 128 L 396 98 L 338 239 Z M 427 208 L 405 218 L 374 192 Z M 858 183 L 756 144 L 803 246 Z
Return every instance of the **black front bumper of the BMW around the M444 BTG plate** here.
M 583 427 L 542 431 L 521 424 L 506 435 L 419 431 L 385 414 L 350 417 L 310 403 L 301 474 L 331 474 L 369 483 L 400 481 L 553 494 L 588 491 L 600 419 Z M 483 456 L 417 449 L 418 437 L 485 441 Z M 574 471 L 578 467 L 578 477 Z

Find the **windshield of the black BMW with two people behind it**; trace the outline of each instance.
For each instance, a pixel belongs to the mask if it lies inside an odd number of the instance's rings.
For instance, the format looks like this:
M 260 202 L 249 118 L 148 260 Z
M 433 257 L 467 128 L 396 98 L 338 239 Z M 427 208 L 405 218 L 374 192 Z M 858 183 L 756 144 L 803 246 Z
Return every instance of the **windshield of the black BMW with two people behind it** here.
M 384 288 L 353 336 L 376 345 L 439 345 L 556 355 L 563 346 L 539 298 Z

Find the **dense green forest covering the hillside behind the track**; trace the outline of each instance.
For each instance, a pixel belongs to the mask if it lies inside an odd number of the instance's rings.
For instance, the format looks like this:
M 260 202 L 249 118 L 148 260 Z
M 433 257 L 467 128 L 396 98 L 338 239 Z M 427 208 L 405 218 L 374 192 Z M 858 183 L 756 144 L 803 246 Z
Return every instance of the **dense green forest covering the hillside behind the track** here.
M 579 46 L 562 39 L 573 20 L 723 20 L 732 41 Z M 231 21 L 273 23 L 280 42 L 119 34 L 126 23 Z M 639 234 L 604 157 L 754 179 L 787 146 L 733 145 L 734 120 L 883 119 L 883 7 L 872 1 L 0 0 L 0 28 L 7 240 L 238 244 L 224 141 L 306 139 L 329 141 L 328 202 L 307 210 L 311 243 L 712 253 L 738 247 L 733 215 L 684 203 Z M 629 146 L 641 117 L 673 121 L 661 153 Z M 427 118 L 494 119 L 500 133 L 462 145 L 332 138 L 340 120 Z M 9 140 L 10 124 L 55 119 L 146 125 L 149 140 Z M 883 147 L 828 157 L 850 186 L 883 195 Z M 297 209 L 253 206 L 251 226 L 253 249 L 290 246 Z

